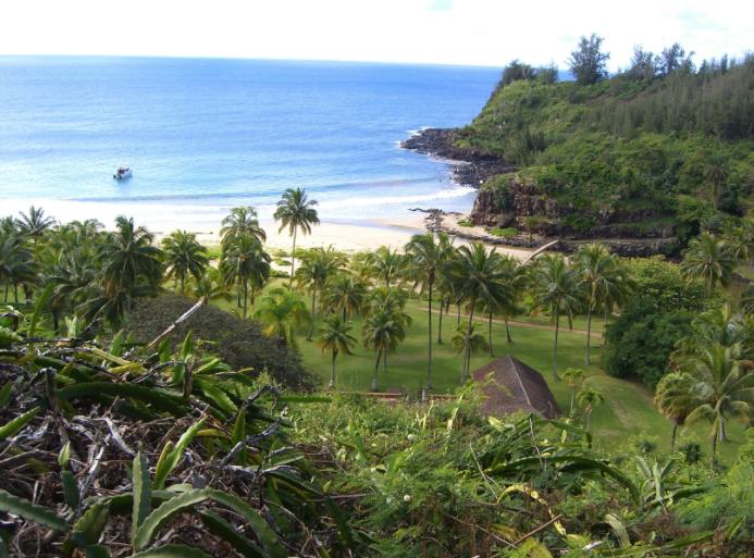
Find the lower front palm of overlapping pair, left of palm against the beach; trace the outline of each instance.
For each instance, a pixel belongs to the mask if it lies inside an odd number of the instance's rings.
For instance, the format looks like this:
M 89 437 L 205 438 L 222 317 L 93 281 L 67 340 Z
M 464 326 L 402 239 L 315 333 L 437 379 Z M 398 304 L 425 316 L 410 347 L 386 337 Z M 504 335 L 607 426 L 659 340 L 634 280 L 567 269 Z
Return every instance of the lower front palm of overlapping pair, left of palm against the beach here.
M 251 290 L 251 308 L 258 289 L 262 288 L 270 278 L 270 255 L 262 249 L 259 240 L 248 234 L 234 238 L 224 250 L 220 261 L 220 270 L 226 284 L 235 283 L 243 293 L 244 318 L 247 314 L 249 289 Z

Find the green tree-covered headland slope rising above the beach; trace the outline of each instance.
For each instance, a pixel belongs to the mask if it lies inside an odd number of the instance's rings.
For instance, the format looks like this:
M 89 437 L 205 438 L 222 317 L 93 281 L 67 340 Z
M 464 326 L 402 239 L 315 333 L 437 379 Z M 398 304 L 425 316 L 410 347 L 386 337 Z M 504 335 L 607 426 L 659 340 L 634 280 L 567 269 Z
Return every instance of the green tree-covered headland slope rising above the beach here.
M 455 147 L 518 165 L 493 177 L 478 220 L 542 234 L 669 236 L 745 215 L 754 185 L 754 59 L 638 80 L 498 87 Z M 480 203 L 478 203 L 479 206 Z M 481 215 L 484 214 L 484 218 Z M 636 226 L 643 223 L 643 228 Z M 531 223 L 529 223 L 531 225 Z M 595 232 L 595 227 L 597 231 Z

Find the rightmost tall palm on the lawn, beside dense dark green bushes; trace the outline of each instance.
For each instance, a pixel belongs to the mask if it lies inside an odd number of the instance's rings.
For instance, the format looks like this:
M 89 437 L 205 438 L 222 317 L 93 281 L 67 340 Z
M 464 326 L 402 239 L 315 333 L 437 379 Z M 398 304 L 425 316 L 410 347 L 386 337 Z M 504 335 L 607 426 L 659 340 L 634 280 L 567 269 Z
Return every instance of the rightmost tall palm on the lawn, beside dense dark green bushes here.
M 597 302 L 602 298 L 607 310 L 610 303 L 622 301 L 629 282 L 617 258 L 611 256 L 607 247 L 602 244 L 582 246 L 576 252 L 574 261 L 588 292 L 585 364 L 589 365 L 591 363 L 592 314 L 596 310 Z

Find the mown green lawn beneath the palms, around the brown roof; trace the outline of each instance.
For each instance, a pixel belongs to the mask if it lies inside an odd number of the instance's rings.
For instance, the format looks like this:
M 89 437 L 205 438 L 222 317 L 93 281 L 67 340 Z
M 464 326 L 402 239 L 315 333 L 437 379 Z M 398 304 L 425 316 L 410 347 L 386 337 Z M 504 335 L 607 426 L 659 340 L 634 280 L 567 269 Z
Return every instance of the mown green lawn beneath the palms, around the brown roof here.
M 282 284 L 281 280 L 272 282 Z M 307 300 L 309 298 L 307 297 Z M 235 301 L 217 302 L 226 310 L 235 311 Z M 406 389 L 417 393 L 427 377 L 427 302 L 411 299 L 407 305 L 407 313 L 412 323 L 408 327 L 404 343 L 397 352 L 387 358 L 387 372 L 379 372 L 380 389 L 383 392 L 399 392 Z M 438 315 L 432 315 L 433 337 L 436 339 Z M 319 320 L 318 320 L 319 321 Z M 534 325 L 549 325 L 546 317 L 517 317 L 516 322 Z M 564 324 L 565 325 L 565 324 Z M 318 324 L 314 330 L 317 331 Z M 460 380 L 460 356 L 450 345 L 450 337 L 456 326 L 455 309 L 443 317 L 443 345 L 433 346 L 433 384 L 438 394 L 453 394 Z M 574 320 L 576 330 L 585 330 L 585 320 L 579 317 Z M 586 336 L 580 332 L 560 328 L 558 345 L 558 370 L 560 373 L 568 367 L 582 368 L 586 372 L 586 383 L 598 389 L 605 398 L 605 404 L 596 407 L 592 414 L 592 430 L 595 445 L 611 451 L 629 448 L 640 442 L 651 442 L 659 452 L 669 448 L 670 422 L 663 417 L 652 402 L 652 394 L 641 384 L 607 375 L 600 367 L 602 355 L 603 320 L 595 317 L 592 323 L 592 365 L 584 367 L 584 347 Z M 531 327 L 512 324 L 510 326 L 512 344 L 505 342 L 505 326 L 493 324 L 493 348 L 495 357 L 512 355 L 532 368 L 539 370 L 547 381 L 560 409 L 568 412 L 570 389 L 564 381 L 553 377 L 553 331 L 542 327 Z M 486 333 L 486 321 L 480 321 L 481 332 Z M 369 389 L 374 371 L 373 351 L 364 348 L 361 343 L 361 319 L 354 320 L 353 335 L 359 342 L 351 356 L 339 356 L 336 364 L 336 388 L 342 390 L 366 392 Z M 323 385 L 330 379 L 330 354 L 323 354 L 314 342 L 306 340 L 306 332 L 301 332 L 296 345 L 306 365 L 320 375 Z M 471 369 L 490 361 L 487 354 L 474 355 Z M 679 429 L 677 444 L 695 442 L 702 445 L 705 456 L 709 452 L 709 427 L 704 423 Z M 730 423 L 730 443 L 718 446 L 720 459 L 730 462 L 738 451 L 738 444 L 743 439 L 743 426 Z

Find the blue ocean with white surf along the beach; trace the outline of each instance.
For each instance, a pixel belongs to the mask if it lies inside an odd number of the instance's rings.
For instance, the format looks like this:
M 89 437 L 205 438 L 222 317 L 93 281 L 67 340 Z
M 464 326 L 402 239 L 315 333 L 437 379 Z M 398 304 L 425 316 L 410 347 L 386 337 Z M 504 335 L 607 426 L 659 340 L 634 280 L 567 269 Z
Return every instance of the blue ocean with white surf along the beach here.
M 468 210 L 445 162 L 399 148 L 469 123 L 489 67 L 217 59 L 0 58 L 0 215 L 118 214 L 215 228 L 232 207 L 270 219 L 306 188 L 329 222 Z M 128 164 L 133 176 L 112 178 Z

